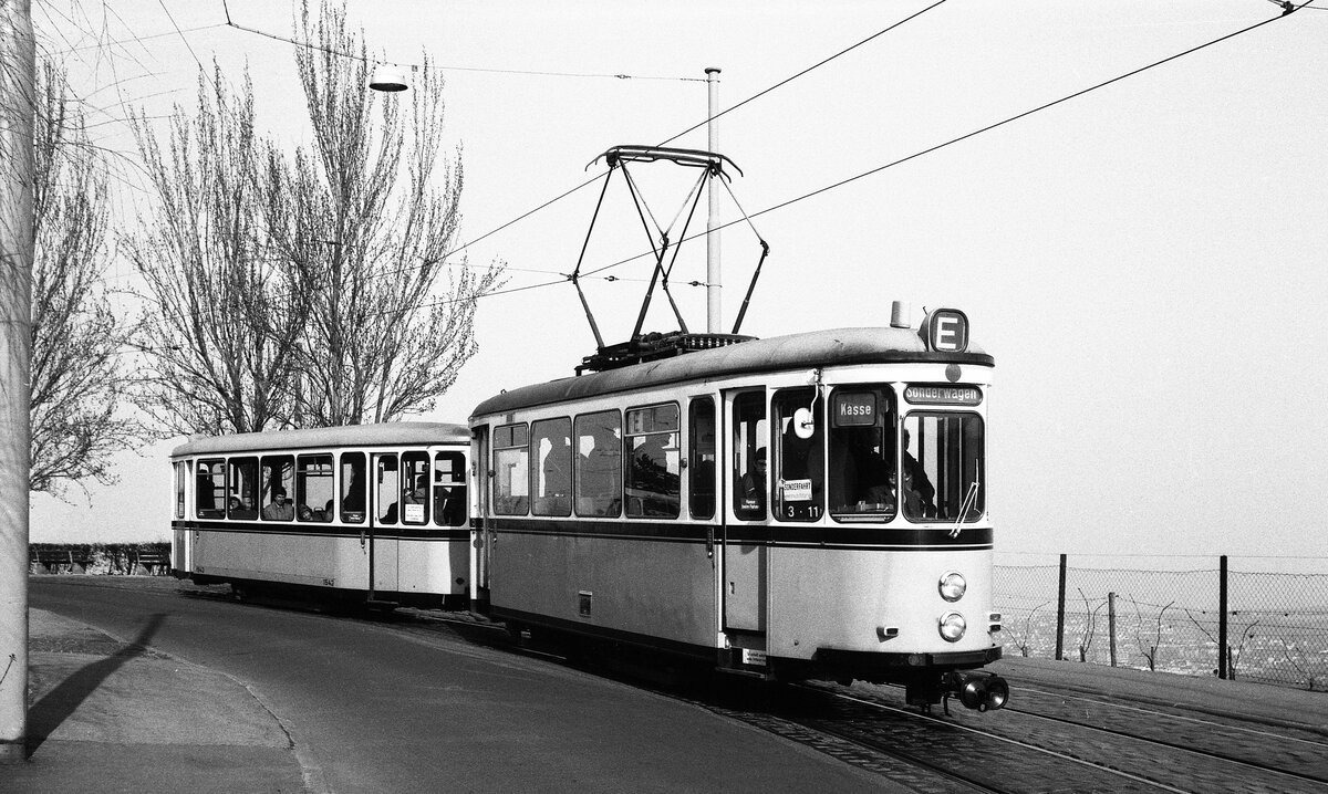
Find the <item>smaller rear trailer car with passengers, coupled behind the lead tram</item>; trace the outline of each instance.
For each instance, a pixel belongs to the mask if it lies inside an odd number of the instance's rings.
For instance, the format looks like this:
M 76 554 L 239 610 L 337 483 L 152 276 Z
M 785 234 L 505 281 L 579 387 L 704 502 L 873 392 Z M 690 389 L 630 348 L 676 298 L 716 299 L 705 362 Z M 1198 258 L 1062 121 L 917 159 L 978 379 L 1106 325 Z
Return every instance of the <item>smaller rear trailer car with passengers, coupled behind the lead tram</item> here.
M 171 453 L 171 568 L 238 590 L 462 607 L 469 454 L 463 425 L 434 422 L 193 439 Z

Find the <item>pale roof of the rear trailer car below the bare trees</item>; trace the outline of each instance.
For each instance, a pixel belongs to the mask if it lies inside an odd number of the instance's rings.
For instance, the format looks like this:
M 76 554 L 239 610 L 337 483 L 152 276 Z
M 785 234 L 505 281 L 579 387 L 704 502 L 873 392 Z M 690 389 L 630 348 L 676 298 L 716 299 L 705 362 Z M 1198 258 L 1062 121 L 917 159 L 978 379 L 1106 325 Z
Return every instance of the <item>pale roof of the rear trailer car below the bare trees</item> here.
M 470 443 L 470 428 L 448 422 L 382 422 L 307 430 L 270 430 L 194 438 L 171 450 L 171 457 L 332 446 L 398 446 Z

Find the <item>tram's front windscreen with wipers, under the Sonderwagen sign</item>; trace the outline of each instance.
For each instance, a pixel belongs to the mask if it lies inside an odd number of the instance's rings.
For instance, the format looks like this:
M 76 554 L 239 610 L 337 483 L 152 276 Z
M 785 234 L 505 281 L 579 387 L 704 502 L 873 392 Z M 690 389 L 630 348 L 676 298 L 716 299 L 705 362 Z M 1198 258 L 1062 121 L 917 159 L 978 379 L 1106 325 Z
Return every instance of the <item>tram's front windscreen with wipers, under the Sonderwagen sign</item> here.
M 911 413 L 904 420 L 900 495 L 908 520 L 972 522 L 987 494 L 985 432 L 973 413 Z

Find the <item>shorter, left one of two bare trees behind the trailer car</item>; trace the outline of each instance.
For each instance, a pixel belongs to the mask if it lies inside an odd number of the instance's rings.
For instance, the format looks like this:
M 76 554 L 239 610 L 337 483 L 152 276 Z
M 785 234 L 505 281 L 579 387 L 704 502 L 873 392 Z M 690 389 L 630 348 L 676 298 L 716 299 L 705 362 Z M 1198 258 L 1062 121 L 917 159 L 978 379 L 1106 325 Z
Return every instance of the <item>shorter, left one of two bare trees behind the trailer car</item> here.
M 291 372 L 308 311 L 304 274 L 274 258 L 255 181 L 248 74 L 240 93 L 214 64 L 198 106 L 181 106 L 165 145 L 143 116 L 134 133 L 157 214 L 126 252 L 147 283 L 150 353 L 139 405 L 177 433 L 247 433 L 290 424 Z

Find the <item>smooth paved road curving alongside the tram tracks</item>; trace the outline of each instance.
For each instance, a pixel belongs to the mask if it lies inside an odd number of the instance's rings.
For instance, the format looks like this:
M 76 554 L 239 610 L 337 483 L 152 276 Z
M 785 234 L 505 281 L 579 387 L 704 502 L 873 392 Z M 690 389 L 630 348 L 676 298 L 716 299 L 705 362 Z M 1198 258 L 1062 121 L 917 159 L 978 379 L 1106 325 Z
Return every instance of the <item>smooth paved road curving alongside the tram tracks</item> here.
M 247 685 L 316 791 L 898 790 L 709 712 L 450 632 L 73 578 L 33 579 L 31 601 Z

